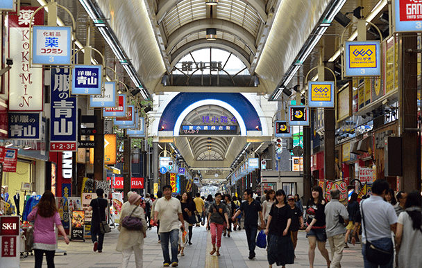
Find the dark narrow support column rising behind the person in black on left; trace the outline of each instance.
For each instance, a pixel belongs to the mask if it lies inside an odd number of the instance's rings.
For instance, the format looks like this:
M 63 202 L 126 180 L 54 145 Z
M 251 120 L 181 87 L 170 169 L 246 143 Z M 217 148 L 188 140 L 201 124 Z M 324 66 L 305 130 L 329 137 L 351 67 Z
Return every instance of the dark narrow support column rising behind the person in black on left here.
M 94 179 L 96 181 L 104 180 L 104 119 L 103 109 L 95 108 L 96 134 L 94 135 Z

